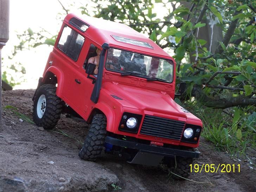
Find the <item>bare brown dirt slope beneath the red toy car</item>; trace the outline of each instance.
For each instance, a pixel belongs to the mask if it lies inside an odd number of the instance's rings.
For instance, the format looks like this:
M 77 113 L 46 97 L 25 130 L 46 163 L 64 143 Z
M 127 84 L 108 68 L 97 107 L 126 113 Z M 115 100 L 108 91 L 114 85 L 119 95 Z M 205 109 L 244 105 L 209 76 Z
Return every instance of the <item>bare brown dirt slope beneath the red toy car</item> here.
M 256 170 L 247 159 L 232 160 L 201 139 L 197 164 L 240 164 L 241 172 L 192 173 L 190 180 L 168 179 L 161 165 L 146 167 L 128 164 L 103 154 L 96 162 L 81 160 L 78 152 L 88 131 L 85 122 L 62 115 L 52 131 L 43 130 L 14 114 L 6 105 L 32 119 L 34 90 L 2 92 L 0 128 L 0 191 L 256 191 Z M 22 119 L 22 120 L 20 120 Z M 41 129 L 41 130 L 40 130 Z M 65 133 L 71 137 L 67 137 Z M 57 133 L 59 132 L 59 133 Z M 250 158 L 256 156 L 250 154 Z M 254 159 L 254 158 L 253 158 Z M 254 161 L 255 164 L 255 161 Z M 253 169 L 249 167 L 254 167 Z M 235 170 L 237 171 L 237 170 Z M 196 182 L 193 182 L 196 181 Z M 197 183 L 207 182 L 207 183 Z

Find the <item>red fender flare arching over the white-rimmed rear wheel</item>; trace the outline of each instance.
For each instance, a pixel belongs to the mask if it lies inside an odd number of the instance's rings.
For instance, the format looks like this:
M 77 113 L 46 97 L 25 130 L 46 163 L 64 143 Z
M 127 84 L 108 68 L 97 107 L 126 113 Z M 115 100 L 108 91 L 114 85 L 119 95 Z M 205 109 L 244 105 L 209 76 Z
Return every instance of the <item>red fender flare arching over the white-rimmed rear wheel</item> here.
M 57 83 L 58 83 L 58 86 L 57 86 L 57 90 L 56 90 L 56 95 L 58 97 L 60 97 L 61 95 L 61 92 L 62 92 L 62 89 L 63 89 L 63 82 L 64 82 L 64 75 L 63 75 L 63 72 L 55 67 L 55 66 L 50 66 L 45 72 L 44 72 L 44 75 L 43 75 L 43 79 L 42 79 L 42 82 L 44 83 L 47 79 L 47 73 L 53 73 L 56 78 L 57 78 Z

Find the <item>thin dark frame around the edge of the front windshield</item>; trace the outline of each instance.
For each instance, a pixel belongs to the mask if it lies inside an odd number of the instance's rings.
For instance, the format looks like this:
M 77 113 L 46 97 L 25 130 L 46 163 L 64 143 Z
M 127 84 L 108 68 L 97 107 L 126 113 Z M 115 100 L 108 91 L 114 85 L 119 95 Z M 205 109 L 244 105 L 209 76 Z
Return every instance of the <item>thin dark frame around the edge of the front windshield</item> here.
M 173 81 L 174 81 L 174 72 L 175 72 L 175 69 L 174 69 L 174 61 L 172 60 L 172 59 L 167 59 L 167 58 L 162 58 L 162 57 L 156 57 L 156 56 L 152 56 L 152 55 L 147 55 L 147 54 L 144 54 L 144 53 L 140 53 L 140 52 L 135 52 L 135 51 L 128 51 L 128 50 L 125 50 L 125 49 L 121 49 L 121 48 L 119 48 L 119 47 L 109 47 L 109 49 L 110 48 L 113 48 L 113 49 L 118 49 L 118 50 L 121 50 L 121 51 L 127 51 L 127 52 L 131 52 L 131 53 L 136 53 L 136 54 L 140 54 L 140 55 L 145 55 L 145 56 L 148 56 L 148 57 L 155 57 L 155 58 L 159 58 L 159 59 L 164 59 L 164 60 L 167 60 L 167 61 L 170 61 L 171 63 L 170 63 L 170 65 L 172 65 L 172 67 L 173 67 L 173 70 L 172 70 L 172 81 L 171 82 L 169 82 L 169 81 L 165 81 L 165 79 L 162 79 L 162 80 L 159 80 L 159 79 L 155 79 L 155 81 L 158 81 L 158 82 L 163 82 L 163 83 L 173 83 Z M 115 70 L 111 70 L 111 69 L 107 69 L 106 68 L 106 64 L 107 64 L 107 60 L 108 60 L 108 51 L 109 51 L 109 49 L 107 50 L 107 55 L 106 55 L 106 60 L 105 60 L 105 63 L 104 63 L 104 67 L 105 67 L 105 70 L 107 70 L 107 71 L 111 71 L 111 72 L 116 72 L 116 73 L 119 73 L 119 74 L 127 74 L 127 73 L 125 73 L 125 72 L 120 72 L 120 71 L 115 71 Z M 169 62 L 168 62 L 169 63 Z M 130 74 L 131 76 L 135 76 L 135 77 L 140 77 L 140 78 L 144 78 L 144 79 L 154 79 L 154 77 L 146 77 L 146 76 L 141 76 L 141 75 L 138 75 L 138 74 Z M 129 75 L 128 75 L 129 76 Z

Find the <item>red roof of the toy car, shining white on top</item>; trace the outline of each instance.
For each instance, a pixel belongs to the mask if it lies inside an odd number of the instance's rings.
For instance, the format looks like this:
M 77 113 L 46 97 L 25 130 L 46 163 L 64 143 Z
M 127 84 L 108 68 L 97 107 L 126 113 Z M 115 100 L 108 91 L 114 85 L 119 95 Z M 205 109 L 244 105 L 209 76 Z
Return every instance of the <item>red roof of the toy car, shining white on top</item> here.
M 73 17 L 89 25 L 89 28 L 83 34 L 89 39 L 91 39 L 92 41 L 95 41 L 95 43 L 97 43 L 98 45 L 102 45 L 103 43 L 108 43 L 110 47 L 116 47 L 119 49 L 138 52 L 138 53 L 155 56 L 155 57 L 163 57 L 167 59 L 172 58 L 164 50 L 162 50 L 161 47 L 159 47 L 156 43 L 154 43 L 154 41 L 145 37 L 143 34 L 135 31 L 133 28 L 125 24 L 116 23 L 113 21 L 104 20 L 104 19 L 95 18 L 95 17 L 89 17 L 87 15 L 78 16 L 73 13 L 70 13 L 65 17 L 64 23 L 68 24 L 69 20 Z M 152 48 L 123 43 L 115 40 L 113 36 L 142 41 L 150 44 Z

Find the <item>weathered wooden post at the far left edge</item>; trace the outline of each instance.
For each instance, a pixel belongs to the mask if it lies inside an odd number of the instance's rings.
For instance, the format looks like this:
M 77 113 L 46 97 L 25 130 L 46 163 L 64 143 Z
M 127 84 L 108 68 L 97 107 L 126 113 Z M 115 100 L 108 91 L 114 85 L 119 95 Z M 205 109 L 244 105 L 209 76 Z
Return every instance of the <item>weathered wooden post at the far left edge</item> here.
M 1 50 L 2 47 L 9 39 L 9 7 L 10 2 L 9 0 L 0 0 L 0 124 L 2 123 L 2 71 L 1 71 L 1 64 L 2 64 L 2 57 L 1 57 Z

